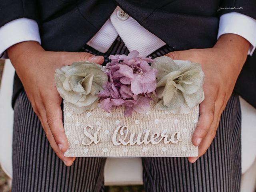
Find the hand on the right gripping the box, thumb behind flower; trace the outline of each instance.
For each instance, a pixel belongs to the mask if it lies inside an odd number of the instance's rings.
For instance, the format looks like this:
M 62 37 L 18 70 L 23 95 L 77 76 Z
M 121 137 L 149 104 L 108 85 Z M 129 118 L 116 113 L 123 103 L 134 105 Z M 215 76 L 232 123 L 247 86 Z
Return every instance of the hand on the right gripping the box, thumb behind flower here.
M 236 79 L 247 58 L 250 43 L 235 34 L 220 36 L 213 48 L 170 52 L 174 60 L 190 60 L 202 65 L 205 74 L 204 101 L 199 105 L 198 126 L 192 142 L 202 156 L 216 135 L 220 116 L 230 98 Z M 189 157 L 191 163 L 198 157 Z

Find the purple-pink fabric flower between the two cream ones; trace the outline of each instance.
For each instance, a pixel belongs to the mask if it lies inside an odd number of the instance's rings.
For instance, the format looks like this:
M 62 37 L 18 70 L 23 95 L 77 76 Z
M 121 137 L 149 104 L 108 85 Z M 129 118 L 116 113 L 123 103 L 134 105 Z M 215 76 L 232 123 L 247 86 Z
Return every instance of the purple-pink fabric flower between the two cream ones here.
M 102 97 L 100 107 L 110 112 L 113 107 L 125 106 L 124 116 L 132 112 L 147 113 L 150 96 L 156 89 L 156 69 L 151 69 L 151 58 L 140 58 L 134 50 L 126 55 L 111 55 L 106 65 L 108 82 L 98 94 Z

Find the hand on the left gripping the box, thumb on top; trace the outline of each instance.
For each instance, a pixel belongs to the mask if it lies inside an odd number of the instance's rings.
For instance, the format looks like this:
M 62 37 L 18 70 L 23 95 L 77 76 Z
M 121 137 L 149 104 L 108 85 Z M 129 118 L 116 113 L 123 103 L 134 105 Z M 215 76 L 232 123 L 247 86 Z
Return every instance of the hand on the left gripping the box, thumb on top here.
M 66 166 L 71 166 L 75 158 L 63 154 L 68 149 L 68 140 L 64 133 L 61 97 L 55 87 L 54 72 L 56 68 L 72 62 L 102 64 L 104 57 L 85 52 L 45 51 L 34 41 L 15 44 L 8 48 L 7 53 L 52 149 Z

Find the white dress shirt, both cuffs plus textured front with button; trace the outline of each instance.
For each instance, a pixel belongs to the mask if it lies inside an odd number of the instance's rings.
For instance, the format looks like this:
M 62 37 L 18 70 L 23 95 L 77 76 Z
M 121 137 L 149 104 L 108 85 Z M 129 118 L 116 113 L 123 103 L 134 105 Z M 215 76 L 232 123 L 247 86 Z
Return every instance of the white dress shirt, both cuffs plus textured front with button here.
M 227 33 L 238 34 L 248 40 L 251 44 L 248 54 L 252 55 L 256 47 L 255 19 L 237 12 L 223 14 L 220 17 L 218 38 Z M 106 52 L 118 35 L 129 51 L 138 50 L 141 57 L 148 56 L 165 45 L 165 42 L 143 28 L 119 7 L 87 44 L 100 52 Z M 36 21 L 20 18 L 8 22 L 0 28 L 0 58 L 8 58 L 5 50 L 10 46 L 29 40 L 41 43 Z

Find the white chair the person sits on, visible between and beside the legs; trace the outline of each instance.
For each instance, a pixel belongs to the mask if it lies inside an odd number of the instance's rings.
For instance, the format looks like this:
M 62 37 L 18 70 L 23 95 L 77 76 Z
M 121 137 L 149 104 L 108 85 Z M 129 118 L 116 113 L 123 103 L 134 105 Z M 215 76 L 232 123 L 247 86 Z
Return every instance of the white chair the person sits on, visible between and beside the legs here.
M 0 164 L 12 178 L 12 124 L 11 108 L 14 68 L 6 60 L 0 86 Z M 256 189 L 256 109 L 243 99 L 242 108 L 242 185 L 241 192 Z M 125 166 L 124 166 L 125 165 Z M 124 174 L 125 173 L 125 174 Z M 142 162 L 140 158 L 108 158 L 104 169 L 106 185 L 142 184 Z

